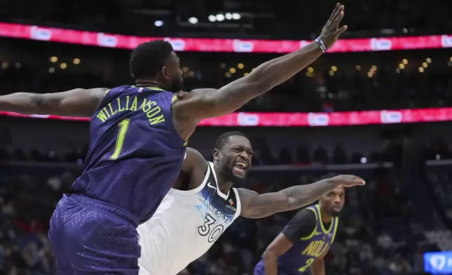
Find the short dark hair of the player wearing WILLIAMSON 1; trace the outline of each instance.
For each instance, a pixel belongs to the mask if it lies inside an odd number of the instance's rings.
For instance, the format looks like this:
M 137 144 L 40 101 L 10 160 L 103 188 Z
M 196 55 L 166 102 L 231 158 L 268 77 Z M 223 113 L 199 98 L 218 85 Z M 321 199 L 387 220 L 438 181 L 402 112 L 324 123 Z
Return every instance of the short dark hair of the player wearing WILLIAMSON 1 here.
M 153 40 L 138 45 L 133 50 L 130 60 L 131 72 L 135 79 L 145 79 L 157 74 L 173 51 L 171 43 L 164 40 Z

